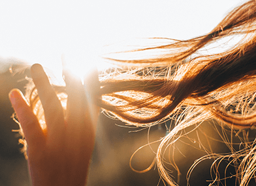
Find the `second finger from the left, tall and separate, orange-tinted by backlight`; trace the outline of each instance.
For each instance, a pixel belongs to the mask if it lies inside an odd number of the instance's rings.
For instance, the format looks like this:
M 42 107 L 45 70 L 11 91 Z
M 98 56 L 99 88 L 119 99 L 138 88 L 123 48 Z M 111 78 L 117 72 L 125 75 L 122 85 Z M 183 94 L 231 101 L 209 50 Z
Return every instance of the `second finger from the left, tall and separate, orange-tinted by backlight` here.
M 61 131 L 64 129 L 64 113 L 61 102 L 57 98 L 56 92 L 40 64 L 31 66 L 31 76 L 44 109 L 48 135 L 60 137 Z

